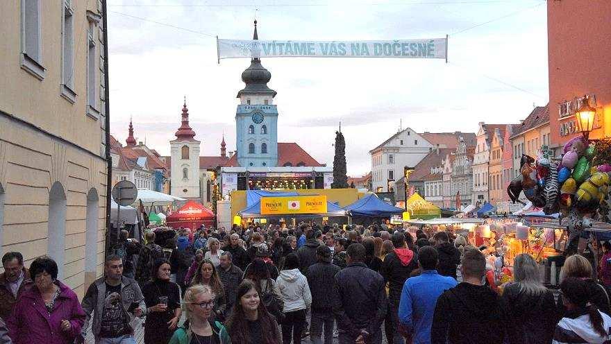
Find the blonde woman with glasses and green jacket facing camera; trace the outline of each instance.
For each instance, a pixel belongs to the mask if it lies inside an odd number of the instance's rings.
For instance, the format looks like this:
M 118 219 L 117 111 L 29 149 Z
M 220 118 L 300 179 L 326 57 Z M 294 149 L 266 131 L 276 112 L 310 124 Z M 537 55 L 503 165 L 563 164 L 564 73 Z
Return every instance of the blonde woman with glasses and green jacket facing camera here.
M 178 327 L 168 344 L 220 344 L 219 334 L 223 325 L 210 323 L 210 313 L 215 307 L 212 291 L 208 286 L 197 284 L 185 293 L 187 320 Z

